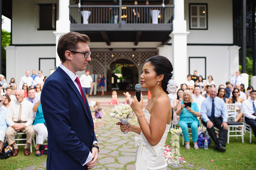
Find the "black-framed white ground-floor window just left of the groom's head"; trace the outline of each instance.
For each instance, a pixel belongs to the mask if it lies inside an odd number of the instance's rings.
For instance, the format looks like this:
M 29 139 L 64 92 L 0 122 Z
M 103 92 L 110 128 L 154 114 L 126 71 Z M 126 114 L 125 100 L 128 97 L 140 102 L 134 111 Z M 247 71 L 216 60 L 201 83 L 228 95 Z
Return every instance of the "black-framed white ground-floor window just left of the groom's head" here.
M 50 75 L 50 70 L 55 69 L 56 58 L 39 58 L 39 70 L 44 76 Z

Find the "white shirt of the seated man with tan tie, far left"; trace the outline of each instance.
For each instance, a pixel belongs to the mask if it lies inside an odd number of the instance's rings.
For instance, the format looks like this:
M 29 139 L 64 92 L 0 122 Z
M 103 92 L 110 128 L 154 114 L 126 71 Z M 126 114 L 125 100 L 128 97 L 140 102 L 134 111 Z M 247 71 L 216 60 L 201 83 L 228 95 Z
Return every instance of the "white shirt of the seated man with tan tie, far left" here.
M 21 121 L 26 121 L 25 126 L 32 125 L 35 113 L 33 112 L 33 104 L 28 102 L 28 100 L 23 100 L 21 103 L 16 101 L 11 103 L 8 113 L 6 115 L 6 122 L 9 126 L 14 125 L 15 121 L 18 121 L 18 115 L 20 111 L 20 104 L 21 104 Z

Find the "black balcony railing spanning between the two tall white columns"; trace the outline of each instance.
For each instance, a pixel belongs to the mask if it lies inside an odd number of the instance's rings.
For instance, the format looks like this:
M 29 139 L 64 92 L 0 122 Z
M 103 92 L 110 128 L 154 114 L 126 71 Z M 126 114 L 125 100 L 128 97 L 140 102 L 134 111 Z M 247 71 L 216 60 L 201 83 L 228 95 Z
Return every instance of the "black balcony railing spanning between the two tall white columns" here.
M 70 22 L 97 23 L 145 23 L 167 24 L 172 22 L 173 5 L 86 5 L 78 8 L 70 5 Z M 121 15 L 119 14 L 121 12 Z M 134 13 L 136 15 L 134 15 Z

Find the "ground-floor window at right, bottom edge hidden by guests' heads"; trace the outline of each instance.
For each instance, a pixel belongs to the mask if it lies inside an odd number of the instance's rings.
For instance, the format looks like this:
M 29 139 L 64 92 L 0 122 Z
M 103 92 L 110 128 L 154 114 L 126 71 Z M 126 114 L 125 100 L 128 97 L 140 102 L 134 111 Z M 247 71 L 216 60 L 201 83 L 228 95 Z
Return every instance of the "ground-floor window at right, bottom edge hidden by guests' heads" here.
M 188 57 L 188 60 L 189 74 L 193 75 L 196 70 L 198 76 L 201 75 L 206 79 L 206 57 Z

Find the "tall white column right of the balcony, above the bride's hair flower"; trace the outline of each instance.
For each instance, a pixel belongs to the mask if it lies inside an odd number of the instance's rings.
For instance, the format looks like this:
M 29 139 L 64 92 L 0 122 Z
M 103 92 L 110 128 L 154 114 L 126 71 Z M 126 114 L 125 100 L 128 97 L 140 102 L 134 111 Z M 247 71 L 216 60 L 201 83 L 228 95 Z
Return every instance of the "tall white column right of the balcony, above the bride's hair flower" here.
M 182 84 L 188 74 L 186 20 L 184 20 L 184 0 L 174 0 L 174 20 L 172 22 L 172 56 L 174 80 Z

